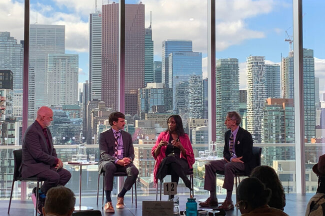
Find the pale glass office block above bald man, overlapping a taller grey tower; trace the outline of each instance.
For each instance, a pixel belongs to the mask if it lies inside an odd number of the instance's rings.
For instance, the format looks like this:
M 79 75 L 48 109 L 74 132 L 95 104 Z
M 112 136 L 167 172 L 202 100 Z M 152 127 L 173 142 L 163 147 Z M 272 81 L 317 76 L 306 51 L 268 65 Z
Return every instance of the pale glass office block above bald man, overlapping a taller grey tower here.
M 48 54 L 48 106 L 77 104 L 78 63 L 77 54 Z

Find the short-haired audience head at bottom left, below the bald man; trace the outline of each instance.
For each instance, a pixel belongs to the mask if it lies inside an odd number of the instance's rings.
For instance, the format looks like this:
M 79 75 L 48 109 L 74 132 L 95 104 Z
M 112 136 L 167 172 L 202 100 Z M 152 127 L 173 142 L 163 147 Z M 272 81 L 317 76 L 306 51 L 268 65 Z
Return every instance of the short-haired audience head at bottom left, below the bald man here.
M 46 193 L 43 215 L 71 216 L 74 211 L 73 192 L 63 186 L 51 188 Z

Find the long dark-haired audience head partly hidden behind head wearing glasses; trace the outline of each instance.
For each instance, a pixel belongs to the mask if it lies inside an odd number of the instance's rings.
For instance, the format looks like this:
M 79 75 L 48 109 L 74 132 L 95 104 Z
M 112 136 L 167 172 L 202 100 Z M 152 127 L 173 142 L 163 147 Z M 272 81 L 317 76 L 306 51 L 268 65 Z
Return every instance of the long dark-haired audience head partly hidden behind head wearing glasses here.
M 250 177 L 259 179 L 266 188 L 272 191 L 268 206 L 283 211 L 285 206 L 285 194 L 274 169 L 269 166 L 258 166 L 251 171 Z

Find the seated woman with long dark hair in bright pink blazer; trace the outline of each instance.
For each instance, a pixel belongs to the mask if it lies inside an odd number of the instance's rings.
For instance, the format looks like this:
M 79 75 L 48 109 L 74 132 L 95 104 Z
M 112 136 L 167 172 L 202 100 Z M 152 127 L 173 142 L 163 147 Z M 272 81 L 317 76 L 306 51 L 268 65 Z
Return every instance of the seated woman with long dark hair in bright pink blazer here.
M 185 186 L 192 190 L 191 183 L 186 177 L 188 169 L 192 169 L 195 162 L 192 145 L 184 132 L 183 123 L 179 115 L 171 115 L 167 120 L 167 130 L 161 132 L 151 154 L 155 160 L 153 181 L 156 186 L 158 179 L 171 175 L 171 182 L 178 184 L 179 177 Z M 168 199 L 172 199 L 171 195 Z

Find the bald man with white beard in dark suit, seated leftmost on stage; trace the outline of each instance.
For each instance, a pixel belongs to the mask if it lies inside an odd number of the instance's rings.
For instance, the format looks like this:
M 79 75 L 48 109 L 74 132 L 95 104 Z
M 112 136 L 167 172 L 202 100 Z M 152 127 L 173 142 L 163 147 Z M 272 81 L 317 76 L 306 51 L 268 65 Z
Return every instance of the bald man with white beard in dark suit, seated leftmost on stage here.
M 32 201 L 38 213 L 44 206 L 47 191 L 57 185 L 65 185 L 71 178 L 69 171 L 63 169 L 61 159 L 57 158 L 52 135 L 48 126 L 53 121 L 53 111 L 46 106 L 37 110 L 36 120 L 27 128 L 22 139 L 21 176 L 45 179 L 38 191 L 36 207 L 36 188 L 32 190 Z

